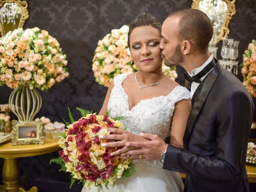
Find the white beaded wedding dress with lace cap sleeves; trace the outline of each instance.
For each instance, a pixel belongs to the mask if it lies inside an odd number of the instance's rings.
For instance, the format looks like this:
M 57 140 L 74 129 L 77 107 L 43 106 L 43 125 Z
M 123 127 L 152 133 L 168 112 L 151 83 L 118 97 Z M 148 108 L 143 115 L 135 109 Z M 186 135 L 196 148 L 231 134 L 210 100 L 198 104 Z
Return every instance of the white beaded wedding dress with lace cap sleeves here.
M 158 134 L 165 139 L 170 132 L 174 105 L 176 102 L 189 99 L 189 91 L 182 86 L 176 86 L 167 96 L 158 96 L 141 100 L 129 110 L 128 96 L 122 88 L 126 74 L 114 78 L 114 88 L 108 101 L 110 116 L 124 116 L 121 120 L 127 130 L 135 134 L 147 132 Z M 161 160 L 133 160 L 136 173 L 128 178 L 117 179 L 109 190 L 104 192 L 182 192 L 184 185 L 178 172 L 164 170 Z M 97 192 L 97 188 L 82 192 Z

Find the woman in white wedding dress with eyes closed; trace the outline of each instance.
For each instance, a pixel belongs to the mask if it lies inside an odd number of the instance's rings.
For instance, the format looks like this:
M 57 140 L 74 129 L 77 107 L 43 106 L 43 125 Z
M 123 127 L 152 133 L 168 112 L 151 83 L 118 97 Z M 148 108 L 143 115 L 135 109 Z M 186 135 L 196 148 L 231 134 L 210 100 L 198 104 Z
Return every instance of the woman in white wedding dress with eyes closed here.
M 139 14 L 129 24 L 128 46 L 138 72 L 120 74 L 110 84 L 99 114 L 124 116 L 126 140 L 145 141 L 140 132 L 158 134 L 162 139 L 171 134 L 171 144 L 183 148 L 183 135 L 191 110 L 190 93 L 162 72 L 160 48 L 161 25 L 150 14 Z M 175 47 L 173 48 L 175 50 Z M 110 138 L 115 137 L 115 138 Z M 109 135 L 116 139 L 118 134 Z M 161 150 L 161 149 L 160 149 Z M 136 173 L 116 180 L 104 192 L 181 192 L 184 185 L 178 172 L 162 169 L 161 160 L 133 160 Z M 96 192 L 97 188 L 82 192 Z

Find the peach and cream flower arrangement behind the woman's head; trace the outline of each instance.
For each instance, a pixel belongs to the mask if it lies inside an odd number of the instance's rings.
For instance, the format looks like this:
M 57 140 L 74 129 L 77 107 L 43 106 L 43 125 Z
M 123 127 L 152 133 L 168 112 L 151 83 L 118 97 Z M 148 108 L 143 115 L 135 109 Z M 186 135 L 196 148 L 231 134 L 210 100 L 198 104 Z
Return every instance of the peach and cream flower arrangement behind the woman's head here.
M 131 74 L 138 71 L 135 64 L 131 63 L 130 50 L 127 44 L 128 30 L 127 25 L 120 29 L 113 29 L 110 34 L 98 41 L 92 60 L 92 71 L 98 84 L 108 87 L 118 74 Z M 167 67 L 164 62 L 162 70 L 166 76 L 173 80 L 178 77 L 176 68 Z

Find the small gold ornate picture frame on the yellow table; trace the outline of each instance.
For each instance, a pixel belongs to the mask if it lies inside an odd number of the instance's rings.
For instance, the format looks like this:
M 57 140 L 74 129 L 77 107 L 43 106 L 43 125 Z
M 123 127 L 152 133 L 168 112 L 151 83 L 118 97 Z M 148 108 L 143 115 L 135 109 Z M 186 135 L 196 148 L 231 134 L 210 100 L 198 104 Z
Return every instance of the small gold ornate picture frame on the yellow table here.
M 12 121 L 12 145 L 43 144 L 42 121 Z

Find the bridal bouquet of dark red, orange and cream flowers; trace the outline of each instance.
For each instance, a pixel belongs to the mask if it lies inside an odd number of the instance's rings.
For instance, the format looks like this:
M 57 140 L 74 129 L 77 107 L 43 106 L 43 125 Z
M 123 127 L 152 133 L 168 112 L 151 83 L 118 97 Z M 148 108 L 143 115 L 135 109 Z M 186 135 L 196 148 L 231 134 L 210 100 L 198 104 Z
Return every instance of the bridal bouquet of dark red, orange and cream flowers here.
M 62 148 L 59 151 L 60 157 L 51 160 L 62 166 L 60 170 L 71 173 L 71 186 L 79 180 L 89 190 L 92 186 L 102 189 L 102 185 L 105 185 L 108 188 L 108 184 L 114 185 L 117 178 L 134 174 L 134 165 L 130 163 L 130 159 L 122 160 L 121 156 L 110 155 L 118 148 L 101 146 L 102 143 L 112 140 L 100 139 L 99 136 L 110 134 L 107 128 L 122 129 L 120 120 L 77 109 L 80 110 L 82 118 L 74 122 L 69 111 L 71 124 L 58 142 Z

